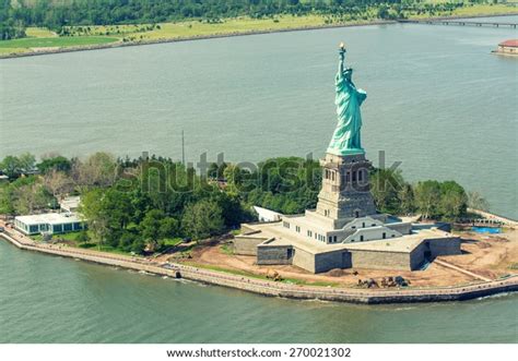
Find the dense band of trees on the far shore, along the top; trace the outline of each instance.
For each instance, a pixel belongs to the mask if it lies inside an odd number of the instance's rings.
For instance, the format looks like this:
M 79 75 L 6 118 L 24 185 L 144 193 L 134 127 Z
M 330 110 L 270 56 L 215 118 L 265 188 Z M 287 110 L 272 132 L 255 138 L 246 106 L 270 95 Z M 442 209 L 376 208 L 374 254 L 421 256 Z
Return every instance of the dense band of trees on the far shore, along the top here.
M 429 3 L 422 0 L 0 0 L 3 38 L 23 36 L 23 26 L 43 26 L 64 32 L 72 25 L 160 23 L 247 15 L 322 14 L 339 19 L 396 19 L 407 14 L 438 15 L 463 7 L 463 1 Z M 486 0 L 470 0 L 484 2 Z M 15 5 L 13 5 L 13 3 Z M 346 16 L 346 17 L 344 17 Z

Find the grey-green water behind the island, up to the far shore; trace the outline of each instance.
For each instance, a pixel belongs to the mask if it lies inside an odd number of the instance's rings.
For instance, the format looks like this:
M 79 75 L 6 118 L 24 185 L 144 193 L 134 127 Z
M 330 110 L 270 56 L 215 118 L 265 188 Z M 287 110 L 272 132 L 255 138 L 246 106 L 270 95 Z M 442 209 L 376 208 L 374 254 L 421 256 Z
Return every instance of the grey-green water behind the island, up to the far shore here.
M 518 16 L 498 17 L 516 22 Z M 455 179 L 518 218 L 516 29 L 387 25 L 0 61 L 0 156 L 143 151 L 233 161 L 320 157 L 335 127 L 337 44 L 368 93 L 363 140 L 410 180 Z M 215 136 L 216 135 L 216 136 Z

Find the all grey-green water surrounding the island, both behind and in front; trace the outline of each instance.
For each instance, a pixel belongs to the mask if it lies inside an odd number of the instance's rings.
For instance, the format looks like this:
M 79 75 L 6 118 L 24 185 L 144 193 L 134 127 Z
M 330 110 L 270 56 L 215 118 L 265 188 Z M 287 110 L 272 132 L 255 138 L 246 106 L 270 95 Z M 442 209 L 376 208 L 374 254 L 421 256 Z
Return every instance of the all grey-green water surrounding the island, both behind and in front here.
M 502 19 L 502 21 L 516 21 Z M 364 145 L 517 218 L 516 31 L 368 26 L 0 61 L 0 156 L 313 152 L 335 124 L 334 51 L 368 92 Z M 215 136 L 217 135 L 217 136 Z M 360 306 L 269 299 L 22 252 L 0 241 L 4 342 L 517 342 L 518 296 Z

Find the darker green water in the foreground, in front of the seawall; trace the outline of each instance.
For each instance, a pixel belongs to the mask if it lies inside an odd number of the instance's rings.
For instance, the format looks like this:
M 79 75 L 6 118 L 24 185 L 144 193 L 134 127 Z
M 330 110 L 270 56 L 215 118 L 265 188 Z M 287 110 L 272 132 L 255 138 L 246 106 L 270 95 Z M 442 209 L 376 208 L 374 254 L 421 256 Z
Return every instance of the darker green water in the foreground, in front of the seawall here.
M 516 293 L 420 305 L 290 301 L 0 241 L 2 342 L 517 342 L 517 301 Z

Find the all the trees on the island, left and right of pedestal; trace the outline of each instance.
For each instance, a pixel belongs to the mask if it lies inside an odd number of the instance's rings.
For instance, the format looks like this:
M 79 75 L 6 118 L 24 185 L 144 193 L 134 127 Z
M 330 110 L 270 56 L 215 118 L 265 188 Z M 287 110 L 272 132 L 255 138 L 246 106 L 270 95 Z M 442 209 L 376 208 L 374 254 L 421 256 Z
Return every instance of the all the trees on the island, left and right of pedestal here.
M 254 219 L 252 205 L 297 214 L 314 208 L 321 185 L 318 161 L 297 157 L 258 165 L 211 164 L 197 172 L 162 157 L 116 159 L 106 153 L 89 158 L 7 156 L 0 170 L 0 214 L 56 208 L 68 194 L 81 195 L 81 213 L 95 241 L 123 251 L 157 250 L 177 238 L 201 240 Z M 421 213 L 455 220 L 468 204 L 485 209 L 479 194 L 455 181 L 410 184 L 400 171 L 370 169 L 370 192 L 380 212 Z

